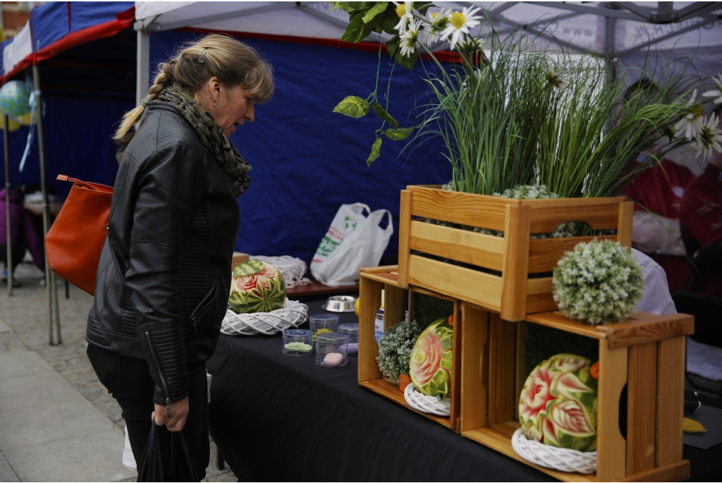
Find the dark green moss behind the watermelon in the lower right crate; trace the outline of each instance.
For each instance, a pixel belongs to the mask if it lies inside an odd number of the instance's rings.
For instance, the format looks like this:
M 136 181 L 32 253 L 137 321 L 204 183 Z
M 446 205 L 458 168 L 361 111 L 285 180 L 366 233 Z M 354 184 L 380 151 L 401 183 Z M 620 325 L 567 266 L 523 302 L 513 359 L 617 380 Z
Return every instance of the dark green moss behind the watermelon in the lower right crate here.
M 576 354 L 586 357 L 593 364 L 599 360 L 599 341 L 591 337 L 571 334 L 556 328 L 539 326 L 536 323 L 527 323 L 526 332 L 526 374 L 539 362 L 549 359 L 556 354 Z

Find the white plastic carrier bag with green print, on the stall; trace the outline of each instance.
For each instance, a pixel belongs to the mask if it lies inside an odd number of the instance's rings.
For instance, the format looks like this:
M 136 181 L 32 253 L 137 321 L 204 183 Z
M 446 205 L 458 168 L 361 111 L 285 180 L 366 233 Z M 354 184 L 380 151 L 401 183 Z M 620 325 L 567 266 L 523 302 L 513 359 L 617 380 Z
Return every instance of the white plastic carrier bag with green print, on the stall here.
M 388 226 L 381 228 L 378 225 L 384 217 L 388 217 Z M 362 203 L 342 204 L 313 256 L 311 274 L 332 287 L 355 285 L 362 267 L 378 265 L 391 235 L 388 209 L 371 212 Z

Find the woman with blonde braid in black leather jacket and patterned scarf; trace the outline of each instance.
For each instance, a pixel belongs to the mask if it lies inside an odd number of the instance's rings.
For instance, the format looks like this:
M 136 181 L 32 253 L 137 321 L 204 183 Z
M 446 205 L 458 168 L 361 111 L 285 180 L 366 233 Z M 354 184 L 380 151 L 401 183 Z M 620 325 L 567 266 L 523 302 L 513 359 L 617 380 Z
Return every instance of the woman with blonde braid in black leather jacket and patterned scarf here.
M 271 98 L 274 82 L 256 51 L 223 35 L 183 46 L 158 70 L 116 132 L 120 139 L 135 126 L 113 188 L 87 354 L 123 409 L 136 461 L 153 418 L 166 478 L 170 432 L 182 430 L 202 479 L 205 362 L 230 292 L 235 199 L 251 183 L 228 136 L 253 122 L 254 103 Z

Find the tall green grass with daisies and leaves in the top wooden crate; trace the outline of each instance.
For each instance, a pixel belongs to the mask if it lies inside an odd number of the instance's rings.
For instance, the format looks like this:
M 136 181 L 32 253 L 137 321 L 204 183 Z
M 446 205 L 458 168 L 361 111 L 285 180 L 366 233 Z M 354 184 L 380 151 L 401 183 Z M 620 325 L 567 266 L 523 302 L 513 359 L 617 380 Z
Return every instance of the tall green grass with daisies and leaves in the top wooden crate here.
M 648 70 L 658 69 L 640 69 L 639 77 L 651 82 L 628 89 L 632 75 L 612 74 L 613 61 L 572 53 L 539 34 L 497 31 L 474 6 L 453 12 L 430 2 L 334 4 L 349 12 L 342 40 L 391 34 L 386 48 L 393 66 L 409 69 L 426 54 L 419 125 L 401 128 L 391 117 L 388 89 L 380 105 L 378 75 L 368 97 L 349 96 L 334 108 L 355 118 L 370 110 L 378 116 L 369 165 L 379 156 L 382 135 L 401 140 L 413 132 L 416 142 L 443 139 L 455 191 L 489 195 L 544 185 L 561 198 L 614 196 L 666 152 L 701 142 L 706 121 L 689 92 L 699 79 L 672 66 L 656 76 Z M 461 63 L 441 64 L 430 51 L 438 43 L 448 43 Z M 665 136 L 669 143 L 649 153 L 653 162 L 634 162 Z

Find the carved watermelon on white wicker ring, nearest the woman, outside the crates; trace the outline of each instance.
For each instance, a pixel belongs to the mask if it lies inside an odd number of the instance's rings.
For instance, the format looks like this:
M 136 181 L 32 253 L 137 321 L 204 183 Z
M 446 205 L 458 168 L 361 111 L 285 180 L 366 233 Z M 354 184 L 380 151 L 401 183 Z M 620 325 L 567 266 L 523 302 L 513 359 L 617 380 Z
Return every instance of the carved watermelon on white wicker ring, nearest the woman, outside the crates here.
M 285 301 L 286 282 L 275 266 L 249 260 L 233 270 L 228 306 L 235 313 L 271 312 Z

